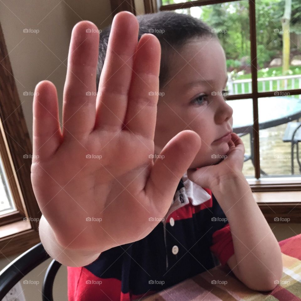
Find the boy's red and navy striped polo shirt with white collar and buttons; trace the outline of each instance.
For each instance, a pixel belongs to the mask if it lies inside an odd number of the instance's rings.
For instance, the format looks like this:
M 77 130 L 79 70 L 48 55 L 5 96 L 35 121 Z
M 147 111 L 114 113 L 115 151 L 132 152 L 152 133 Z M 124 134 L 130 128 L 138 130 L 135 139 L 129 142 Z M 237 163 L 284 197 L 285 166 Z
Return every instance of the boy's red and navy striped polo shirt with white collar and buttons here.
M 128 301 L 225 265 L 234 254 L 230 226 L 211 190 L 181 178 L 164 219 L 145 238 L 67 267 L 69 301 Z

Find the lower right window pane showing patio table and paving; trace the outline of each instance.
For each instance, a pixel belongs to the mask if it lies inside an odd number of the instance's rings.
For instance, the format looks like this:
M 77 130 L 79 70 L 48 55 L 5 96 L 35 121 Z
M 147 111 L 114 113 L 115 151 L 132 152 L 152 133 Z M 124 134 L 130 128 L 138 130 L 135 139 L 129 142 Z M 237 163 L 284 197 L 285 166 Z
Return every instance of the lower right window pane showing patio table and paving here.
M 267 173 L 262 176 L 292 175 L 292 158 L 294 175 L 300 176 L 297 145 L 292 155 L 291 141 L 294 130 L 301 124 L 301 95 L 259 98 L 258 112 L 260 165 Z M 301 127 L 294 139 L 301 141 Z

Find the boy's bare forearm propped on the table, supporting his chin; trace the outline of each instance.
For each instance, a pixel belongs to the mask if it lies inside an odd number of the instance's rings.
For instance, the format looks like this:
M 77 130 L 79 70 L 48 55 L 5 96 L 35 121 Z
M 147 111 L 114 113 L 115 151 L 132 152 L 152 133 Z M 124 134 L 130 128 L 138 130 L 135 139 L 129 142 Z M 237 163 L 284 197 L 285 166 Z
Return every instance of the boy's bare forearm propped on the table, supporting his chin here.
M 217 183 L 211 190 L 228 219 L 243 282 L 256 290 L 272 289 L 282 276 L 281 249 L 249 183 L 242 173 Z

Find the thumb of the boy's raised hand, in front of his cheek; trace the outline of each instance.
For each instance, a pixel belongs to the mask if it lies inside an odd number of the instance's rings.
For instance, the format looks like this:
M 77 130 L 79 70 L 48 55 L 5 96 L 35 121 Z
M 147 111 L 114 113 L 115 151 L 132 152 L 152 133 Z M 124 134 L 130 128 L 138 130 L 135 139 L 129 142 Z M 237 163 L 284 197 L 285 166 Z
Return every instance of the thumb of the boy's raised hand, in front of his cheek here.
M 160 213 L 167 213 L 183 174 L 201 147 L 200 136 L 185 130 L 174 136 L 157 158 L 145 186 L 145 193 Z

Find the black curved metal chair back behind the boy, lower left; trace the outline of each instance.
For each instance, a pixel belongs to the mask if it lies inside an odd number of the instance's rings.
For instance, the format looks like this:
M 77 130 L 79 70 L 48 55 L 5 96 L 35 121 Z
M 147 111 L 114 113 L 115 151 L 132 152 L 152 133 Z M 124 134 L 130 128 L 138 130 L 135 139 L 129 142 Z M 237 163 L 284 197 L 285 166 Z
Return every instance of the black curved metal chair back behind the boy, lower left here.
M 39 243 L 8 264 L 0 271 L 0 300 L 2 300 L 26 274 L 48 258 L 50 258 L 49 254 L 45 251 L 42 243 Z M 42 285 L 43 301 L 53 301 L 53 282 L 60 266 L 61 263 L 53 259 L 47 268 Z

